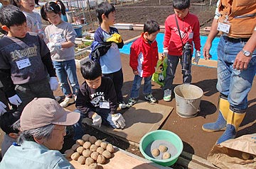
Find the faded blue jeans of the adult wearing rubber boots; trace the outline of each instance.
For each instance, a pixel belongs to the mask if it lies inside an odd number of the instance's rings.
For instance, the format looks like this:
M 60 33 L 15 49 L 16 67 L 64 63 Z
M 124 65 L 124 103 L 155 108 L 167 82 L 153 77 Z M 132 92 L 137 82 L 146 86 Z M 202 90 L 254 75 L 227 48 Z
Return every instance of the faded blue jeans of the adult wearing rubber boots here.
M 230 107 L 234 110 L 246 110 L 247 94 L 252 88 L 252 81 L 256 73 L 256 50 L 246 70 L 233 69 L 233 63 L 238 52 L 246 42 L 229 42 L 220 37 L 218 44 L 218 83 L 217 90 L 228 95 Z

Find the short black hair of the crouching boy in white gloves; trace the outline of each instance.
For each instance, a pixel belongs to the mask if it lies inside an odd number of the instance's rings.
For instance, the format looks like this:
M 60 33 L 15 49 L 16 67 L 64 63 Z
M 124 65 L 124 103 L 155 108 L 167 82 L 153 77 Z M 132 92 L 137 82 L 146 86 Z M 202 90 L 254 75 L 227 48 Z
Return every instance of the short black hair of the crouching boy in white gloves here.
M 82 64 L 80 71 L 82 77 L 86 80 L 95 80 L 99 76 L 102 76 L 102 69 L 100 64 L 92 60 Z

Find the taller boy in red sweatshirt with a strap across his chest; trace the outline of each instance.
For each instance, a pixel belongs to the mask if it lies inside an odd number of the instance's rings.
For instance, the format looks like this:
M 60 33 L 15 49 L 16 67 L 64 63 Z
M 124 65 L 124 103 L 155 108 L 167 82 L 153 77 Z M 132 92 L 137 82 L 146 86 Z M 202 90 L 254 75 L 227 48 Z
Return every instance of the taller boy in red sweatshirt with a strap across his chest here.
M 183 44 L 192 42 L 196 48 L 196 57 L 200 54 L 200 24 L 198 17 L 189 13 L 190 0 L 174 0 L 174 14 L 168 16 L 164 23 L 164 55 L 168 57 L 168 66 L 166 69 L 166 78 L 164 80 L 164 101 L 171 101 L 171 91 L 174 89 L 173 81 L 178 61 L 181 60 Z M 178 26 L 176 24 L 178 23 Z M 178 28 L 180 33 L 178 33 Z M 181 35 L 181 36 L 180 36 Z M 182 39 L 182 42 L 181 42 Z M 193 47 L 191 47 L 193 50 Z M 193 51 L 191 51 L 193 53 Z M 188 69 L 182 70 L 183 83 L 191 83 L 191 64 Z

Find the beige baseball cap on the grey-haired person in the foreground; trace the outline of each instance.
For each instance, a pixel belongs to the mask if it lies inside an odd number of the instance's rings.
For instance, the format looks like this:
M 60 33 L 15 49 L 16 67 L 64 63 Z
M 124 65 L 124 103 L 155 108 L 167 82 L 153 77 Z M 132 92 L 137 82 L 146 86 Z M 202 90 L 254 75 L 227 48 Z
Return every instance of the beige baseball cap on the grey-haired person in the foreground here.
M 48 124 L 69 126 L 78 122 L 79 119 L 79 112 L 64 110 L 52 98 L 34 98 L 21 113 L 21 130 L 36 129 Z

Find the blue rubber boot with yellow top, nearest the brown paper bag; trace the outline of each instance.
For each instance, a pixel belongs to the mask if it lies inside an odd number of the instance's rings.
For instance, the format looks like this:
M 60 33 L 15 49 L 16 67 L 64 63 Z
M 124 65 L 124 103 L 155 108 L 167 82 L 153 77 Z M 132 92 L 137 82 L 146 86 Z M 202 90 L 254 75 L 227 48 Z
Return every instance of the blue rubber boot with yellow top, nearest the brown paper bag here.
M 232 110 L 229 110 L 227 127 L 225 129 L 225 132 L 222 134 L 222 136 L 220 136 L 220 138 L 216 142 L 216 144 L 220 144 L 223 141 L 226 141 L 228 139 L 234 139 L 235 135 L 238 132 L 238 127 L 240 126 L 244 117 L 245 117 L 245 112 L 238 113 L 238 112 L 233 112 Z

